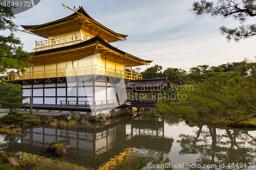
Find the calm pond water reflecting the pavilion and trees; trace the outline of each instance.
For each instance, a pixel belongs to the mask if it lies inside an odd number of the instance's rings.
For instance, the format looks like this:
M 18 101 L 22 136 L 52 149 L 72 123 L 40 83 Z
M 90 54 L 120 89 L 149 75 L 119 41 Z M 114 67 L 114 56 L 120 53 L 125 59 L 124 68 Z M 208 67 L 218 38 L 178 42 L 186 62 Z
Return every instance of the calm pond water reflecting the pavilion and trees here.
M 0 141 L 7 145 L 1 150 L 38 154 L 84 169 L 115 169 L 117 158 L 126 155 L 131 163 L 145 159 L 148 150 L 163 151 L 174 169 L 256 169 L 255 129 L 189 127 L 179 118 L 154 114 L 143 111 L 141 116 L 119 116 L 91 127 L 34 125 L 17 135 L 2 135 Z M 51 142 L 65 138 L 72 144 L 67 155 L 46 152 Z

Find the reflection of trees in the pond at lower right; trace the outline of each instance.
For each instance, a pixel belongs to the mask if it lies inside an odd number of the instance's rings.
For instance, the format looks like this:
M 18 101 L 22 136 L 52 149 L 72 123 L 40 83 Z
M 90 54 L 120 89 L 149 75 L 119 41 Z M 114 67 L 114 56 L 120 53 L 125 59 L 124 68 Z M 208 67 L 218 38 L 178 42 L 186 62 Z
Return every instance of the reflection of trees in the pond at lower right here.
M 200 154 L 197 164 L 255 162 L 256 139 L 248 131 L 220 130 L 199 126 L 196 135 L 180 134 L 179 154 Z M 193 163 L 194 164 L 194 163 Z M 238 168 L 239 169 L 239 168 Z

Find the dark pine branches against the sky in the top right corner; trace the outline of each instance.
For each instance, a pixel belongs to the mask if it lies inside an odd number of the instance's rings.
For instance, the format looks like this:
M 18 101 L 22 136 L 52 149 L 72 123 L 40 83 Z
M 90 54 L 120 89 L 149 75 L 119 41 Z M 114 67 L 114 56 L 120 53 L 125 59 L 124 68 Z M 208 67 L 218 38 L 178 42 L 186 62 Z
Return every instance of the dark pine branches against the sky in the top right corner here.
M 226 35 L 228 41 L 240 41 L 241 39 L 251 38 L 256 35 L 256 25 L 244 25 L 249 17 L 256 16 L 256 1 L 255 0 L 219 0 L 217 5 L 214 2 L 201 0 L 194 2 L 191 9 L 196 16 L 210 15 L 216 17 L 231 17 L 240 21 L 240 27 L 228 29 L 224 26 L 220 27 L 221 34 Z

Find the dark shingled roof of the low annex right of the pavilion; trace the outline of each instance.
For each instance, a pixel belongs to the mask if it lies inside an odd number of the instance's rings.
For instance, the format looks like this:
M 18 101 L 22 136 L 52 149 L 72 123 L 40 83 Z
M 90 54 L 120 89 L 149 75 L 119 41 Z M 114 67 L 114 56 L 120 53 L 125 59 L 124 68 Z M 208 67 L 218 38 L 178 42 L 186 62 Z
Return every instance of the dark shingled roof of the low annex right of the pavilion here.
M 172 87 L 167 77 L 156 79 L 128 80 L 126 89 L 136 91 L 162 90 Z

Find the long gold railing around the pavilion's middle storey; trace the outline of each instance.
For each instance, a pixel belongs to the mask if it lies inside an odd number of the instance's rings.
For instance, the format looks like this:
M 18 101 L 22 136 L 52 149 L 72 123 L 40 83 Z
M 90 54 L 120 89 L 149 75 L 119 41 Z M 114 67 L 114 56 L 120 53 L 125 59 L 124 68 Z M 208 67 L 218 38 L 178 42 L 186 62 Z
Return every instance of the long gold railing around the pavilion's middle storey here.
M 22 75 L 8 76 L 8 81 L 11 80 L 28 80 L 28 79 L 43 79 L 55 77 L 69 77 L 69 76 L 83 76 L 83 75 L 105 75 L 111 77 L 125 78 L 125 79 L 142 79 L 142 75 L 133 72 L 91 65 L 83 67 L 62 68 L 43 71 L 25 72 Z

